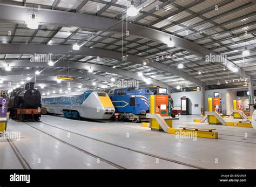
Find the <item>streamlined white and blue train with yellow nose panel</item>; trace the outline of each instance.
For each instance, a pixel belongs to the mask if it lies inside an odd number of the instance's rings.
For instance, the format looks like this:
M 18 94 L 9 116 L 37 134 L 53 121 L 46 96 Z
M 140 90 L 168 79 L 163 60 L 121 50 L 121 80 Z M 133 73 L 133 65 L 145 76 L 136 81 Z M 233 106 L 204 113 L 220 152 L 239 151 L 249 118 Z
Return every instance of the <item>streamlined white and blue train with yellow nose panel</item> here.
M 42 108 L 50 114 L 63 114 L 72 119 L 110 119 L 114 106 L 105 92 L 73 92 L 62 96 L 47 96 L 42 99 Z

